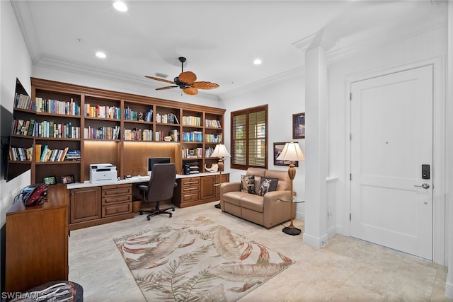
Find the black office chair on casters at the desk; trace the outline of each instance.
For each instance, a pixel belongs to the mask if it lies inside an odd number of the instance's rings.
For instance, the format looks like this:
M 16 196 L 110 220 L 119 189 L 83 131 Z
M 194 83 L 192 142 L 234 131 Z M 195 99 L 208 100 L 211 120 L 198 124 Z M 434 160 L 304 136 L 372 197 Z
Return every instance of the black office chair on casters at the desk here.
M 173 197 L 173 190 L 176 187 L 176 166 L 174 163 L 155 163 L 151 178 L 149 178 L 148 185 L 137 185 L 142 193 L 142 204 L 149 202 L 156 202 L 156 209 L 154 211 L 139 211 L 140 215 L 149 213 L 147 216 L 148 220 L 151 220 L 151 216 L 160 214 L 169 214 L 173 216 L 168 210 L 175 210 L 172 207 L 169 209 L 161 210 L 160 202 Z

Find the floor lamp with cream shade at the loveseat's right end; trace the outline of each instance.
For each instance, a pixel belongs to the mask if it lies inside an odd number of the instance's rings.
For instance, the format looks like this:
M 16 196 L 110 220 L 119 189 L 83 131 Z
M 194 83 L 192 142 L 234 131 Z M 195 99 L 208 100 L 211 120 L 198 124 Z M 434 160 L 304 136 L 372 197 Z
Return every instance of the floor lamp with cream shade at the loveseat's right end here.
M 293 202 L 292 199 L 293 197 L 293 192 L 292 192 L 292 181 L 296 177 L 296 168 L 294 168 L 294 161 L 304 161 L 305 156 L 304 153 L 302 153 L 302 150 L 299 147 L 299 143 L 291 141 L 289 143 L 285 144 L 285 147 L 282 150 L 282 153 L 277 157 L 278 161 L 290 161 L 289 163 L 289 169 L 288 169 L 288 176 L 289 179 L 291 180 L 289 183 L 289 188 L 291 190 L 291 195 L 289 197 L 289 202 L 291 204 L 291 223 L 289 226 L 286 226 L 283 228 L 283 232 L 287 233 L 288 235 L 296 236 L 301 233 L 300 228 L 294 227 L 294 224 L 292 224 L 292 208 L 293 208 Z

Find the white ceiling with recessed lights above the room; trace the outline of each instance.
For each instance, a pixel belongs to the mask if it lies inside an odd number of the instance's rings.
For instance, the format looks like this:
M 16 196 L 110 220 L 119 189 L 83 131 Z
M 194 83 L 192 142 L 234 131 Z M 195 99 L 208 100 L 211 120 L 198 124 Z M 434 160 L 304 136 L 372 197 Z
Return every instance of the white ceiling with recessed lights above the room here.
M 12 1 L 33 63 L 165 83 L 185 71 L 221 95 L 302 69 L 310 37 L 328 30 L 329 54 L 401 39 L 447 22 L 446 1 Z M 105 59 L 95 52 L 103 51 Z M 253 65 L 260 58 L 263 64 Z M 176 89 L 176 88 L 175 88 Z

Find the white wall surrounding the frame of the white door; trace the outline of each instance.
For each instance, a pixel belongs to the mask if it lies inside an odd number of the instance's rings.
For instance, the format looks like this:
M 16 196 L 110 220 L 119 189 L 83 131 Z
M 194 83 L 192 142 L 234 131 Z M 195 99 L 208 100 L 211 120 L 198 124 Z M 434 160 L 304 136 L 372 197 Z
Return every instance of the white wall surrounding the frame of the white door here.
M 329 70 L 329 176 L 338 178 L 336 219 L 338 233 L 349 234 L 349 84 L 351 81 L 403 69 L 435 64 L 434 67 L 434 173 L 435 262 L 445 255 L 445 58 L 447 28 L 437 28 L 392 45 L 354 54 L 334 62 Z M 379 154 L 376 154 L 379 156 Z M 437 242 L 436 242 L 437 241 Z

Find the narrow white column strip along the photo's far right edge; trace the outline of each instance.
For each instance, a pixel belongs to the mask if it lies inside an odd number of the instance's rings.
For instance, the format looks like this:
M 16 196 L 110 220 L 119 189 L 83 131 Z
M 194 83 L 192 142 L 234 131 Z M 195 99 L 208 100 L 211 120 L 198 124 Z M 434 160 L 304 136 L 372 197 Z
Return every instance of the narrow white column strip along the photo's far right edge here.
M 447 50 L 447 116 L 453 116 L 453 2 L 448 1 L 448 50 Z M 445 296 L 453 298 L 453 121 L 447 118 L 447 230 L 448 274 L 445 281 Z

